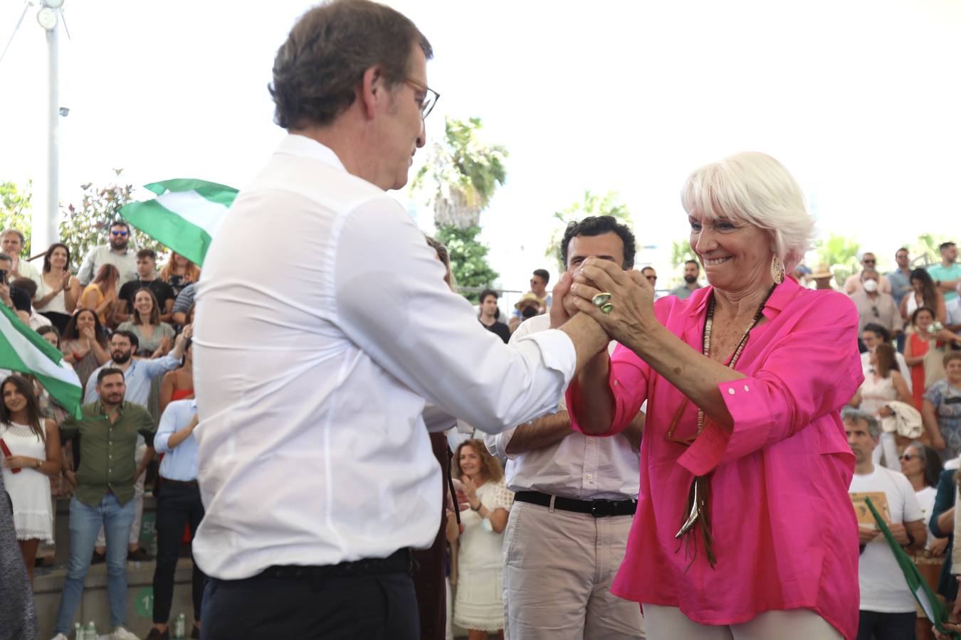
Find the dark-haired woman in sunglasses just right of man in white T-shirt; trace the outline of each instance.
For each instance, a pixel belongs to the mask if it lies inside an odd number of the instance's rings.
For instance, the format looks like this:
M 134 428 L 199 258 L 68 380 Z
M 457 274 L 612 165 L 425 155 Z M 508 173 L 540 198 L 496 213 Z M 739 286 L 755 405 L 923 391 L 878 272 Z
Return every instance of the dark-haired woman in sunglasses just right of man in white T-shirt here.
M 944 466 L 938 452 L 921 442 L 911 442 L 904 447 L 900 455 L 900 472 L 903 473 L 918 497 L 921 512 L 924 513 L 924 527 L 927 529 L 927 542 L 924 550 L 913 554 L 914 563 L 930 584 L 931 589 L 938 588 L 941 567 L 945 563 L 945 552 L 948 549 L 947 537 L 936 537 L 930 530 L 931 515 L 934 501 L 938 494 L 938 481 Z M 931 622 L 924 616 L 924 609 L 918 609 L 918 622 L 915 628 L 919 640 L 933 638 Z

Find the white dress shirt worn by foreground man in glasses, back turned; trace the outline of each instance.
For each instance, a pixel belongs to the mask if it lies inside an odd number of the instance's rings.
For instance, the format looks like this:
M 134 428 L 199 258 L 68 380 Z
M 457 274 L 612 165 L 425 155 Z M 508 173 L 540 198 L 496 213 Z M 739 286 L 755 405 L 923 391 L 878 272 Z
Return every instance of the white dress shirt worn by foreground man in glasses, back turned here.
M 443 276 L 404 207 L 307 137 L 284 138 L 237 196 L 197 285 L 206 574 L 427 547 L 441 476 L 425 400 L 488 431 L 554 410 L 567 335 L 508 346 Z

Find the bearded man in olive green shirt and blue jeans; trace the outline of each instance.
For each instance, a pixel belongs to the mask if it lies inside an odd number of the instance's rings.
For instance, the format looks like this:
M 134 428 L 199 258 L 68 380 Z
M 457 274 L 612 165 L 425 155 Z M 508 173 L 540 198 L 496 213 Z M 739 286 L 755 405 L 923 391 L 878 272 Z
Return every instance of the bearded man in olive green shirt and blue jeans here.
M 136 435 L 153 444 L 157 423 L 140 405 L 124 401 L 127 385 L 118 368 L 97 374 L 99 400 L 84 405 L 83 417 L 61 425 L 63 439 L 80 434 L 80 469 L 70 501 L 70 563 L 55 631 L 64 637 L 84 593 L 93 545 L 100 527 L 107 533 L 107 593 L 112 640 L 136 638 L 124 628 L 127 610 L 127 537 L 134 522 Z M 59 637 L 59 636 L 58 636 Z

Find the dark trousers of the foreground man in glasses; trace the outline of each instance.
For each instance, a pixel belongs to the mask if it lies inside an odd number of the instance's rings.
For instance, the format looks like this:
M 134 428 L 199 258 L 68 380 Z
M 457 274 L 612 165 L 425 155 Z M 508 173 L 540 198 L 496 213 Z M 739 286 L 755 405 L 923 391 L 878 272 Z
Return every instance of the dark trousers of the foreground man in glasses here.
M 407 573 L 222 581 L 204 591 L 204 640 L 417 640 Z

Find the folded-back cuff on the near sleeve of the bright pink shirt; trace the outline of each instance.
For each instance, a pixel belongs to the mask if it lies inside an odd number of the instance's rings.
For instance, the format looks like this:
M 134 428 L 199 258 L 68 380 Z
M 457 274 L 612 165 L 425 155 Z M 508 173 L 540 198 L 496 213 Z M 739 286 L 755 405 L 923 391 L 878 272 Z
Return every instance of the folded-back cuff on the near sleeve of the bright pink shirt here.
M 701 435 L 687 448 L 678 463 L 696 476 L 714 470 L 721 462 L 740 458 L 760 449 L 771 434 L 772 414 L 756 378 L 741 378 L 718 385 L 734 427 L 730 432 L 705 418 Z

